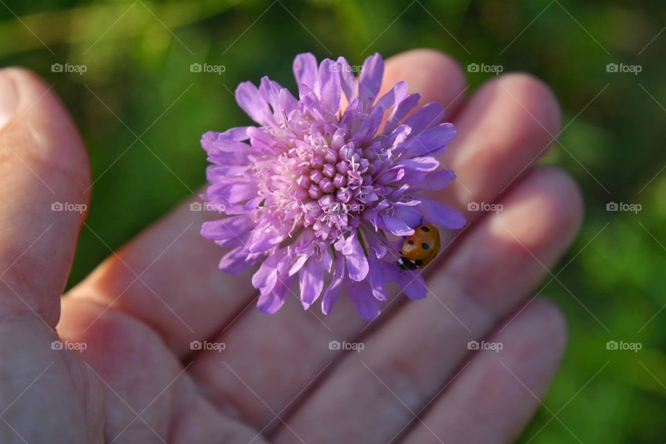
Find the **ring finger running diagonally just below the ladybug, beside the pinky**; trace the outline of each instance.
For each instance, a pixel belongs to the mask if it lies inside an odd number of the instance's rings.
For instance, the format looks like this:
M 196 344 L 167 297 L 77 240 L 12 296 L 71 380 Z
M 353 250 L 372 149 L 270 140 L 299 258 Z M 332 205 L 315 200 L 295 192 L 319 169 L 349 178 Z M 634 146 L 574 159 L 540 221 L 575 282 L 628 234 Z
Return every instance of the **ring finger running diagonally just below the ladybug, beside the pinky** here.
M 486 336 L 543 278 L 580 223 L 577 187 L 561 171 L 545 169 L 524 178 L 500 203 L 502 212 L 472 228 L 429 281 L 430 297 L 404 305 L 364 339 L 363 352 L 346 355 L 287 421 L 291 429 L 305 441 L 354 436 L 385 443 L 409 420 L 409 410 L 418 410 L 450 377 L 468 341 Z M 325 437 L 309 427 L 315 420 Z M 277 442 L 289 441 L 290 434 L 282 429 Z

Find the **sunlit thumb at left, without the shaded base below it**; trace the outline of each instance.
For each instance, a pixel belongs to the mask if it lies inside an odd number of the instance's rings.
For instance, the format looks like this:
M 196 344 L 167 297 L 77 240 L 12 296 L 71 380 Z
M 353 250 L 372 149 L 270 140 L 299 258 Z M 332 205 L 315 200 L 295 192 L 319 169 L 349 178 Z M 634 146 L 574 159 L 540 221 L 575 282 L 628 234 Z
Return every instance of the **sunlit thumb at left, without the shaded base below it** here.
M 51 87 L 0 70 L 0 316 L 56 326 L 89 183 L 83 141 Z

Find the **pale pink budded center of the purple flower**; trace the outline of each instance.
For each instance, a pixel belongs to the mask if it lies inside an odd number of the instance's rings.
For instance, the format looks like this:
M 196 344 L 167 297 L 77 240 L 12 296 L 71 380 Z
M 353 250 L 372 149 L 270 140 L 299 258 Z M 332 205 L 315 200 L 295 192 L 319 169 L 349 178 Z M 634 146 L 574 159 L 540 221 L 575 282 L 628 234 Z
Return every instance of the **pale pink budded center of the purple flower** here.
M 357 226 L 359 214 L 377 199 L 370 170 L 363 150 L 337 134 L 296 140 L 257 165 L 264 209 L 291 225 L 290 233 L 311 228 L 321 239 Z

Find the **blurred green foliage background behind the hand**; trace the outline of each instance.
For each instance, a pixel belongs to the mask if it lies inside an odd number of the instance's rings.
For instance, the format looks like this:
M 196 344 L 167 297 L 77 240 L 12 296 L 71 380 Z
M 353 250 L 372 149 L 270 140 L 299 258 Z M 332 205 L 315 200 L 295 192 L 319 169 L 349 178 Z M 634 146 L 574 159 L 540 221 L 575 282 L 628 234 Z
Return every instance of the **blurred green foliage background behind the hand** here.
M 30 67 L 53 84 L 92 160 L 90 229 L 70 284 L 196 191 L 205 166 L 199 135 L 247 122 L 232 96 L 242 80 L 268 73 L 295 86 L 296 53 L 344 55 L 355 65 L 375 51 L 427 46 L 465 67 L 499 65 L 543 78 L 565 113 L 565 130 L 544 162 L 577 178 L 586 222 L 552 271 L 556 278 L 538 289 L 565 309 L 570 347 L 520 442 L 666 440 L 666 3 L 0 3 L 1 65 Z M 193 63 L 224 68 L 191 72 Z M 613 72 L 609 63 L 634 72 Z M 65 64 L 74 71 L 64 72 Z M 471 89 L 490 76 L 470 72 Z M 640 211 L 608 211 L 608 203 Z M 608 341 L 642 348 L 608 350 Z

